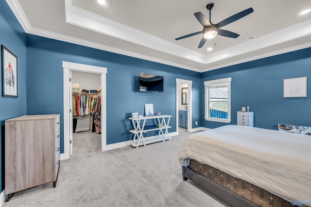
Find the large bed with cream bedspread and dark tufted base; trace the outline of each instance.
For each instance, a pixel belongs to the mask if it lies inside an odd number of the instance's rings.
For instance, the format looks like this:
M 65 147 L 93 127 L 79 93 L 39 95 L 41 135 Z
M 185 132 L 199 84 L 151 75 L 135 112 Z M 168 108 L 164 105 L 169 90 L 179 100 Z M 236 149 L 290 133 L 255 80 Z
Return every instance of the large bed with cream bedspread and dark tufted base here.
M 179 151 L 190 179 L 232 206 L 311 206 L 311 137 L 225 126 L 190 135 Z

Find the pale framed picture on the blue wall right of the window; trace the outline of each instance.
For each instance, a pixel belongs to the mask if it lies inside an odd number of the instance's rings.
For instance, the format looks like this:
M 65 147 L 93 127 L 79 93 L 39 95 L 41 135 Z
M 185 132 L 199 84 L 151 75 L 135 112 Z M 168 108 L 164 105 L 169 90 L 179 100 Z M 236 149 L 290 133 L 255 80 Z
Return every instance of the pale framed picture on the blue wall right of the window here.
M 284 79 L 283 97 L 307 97 L 307 77 Z

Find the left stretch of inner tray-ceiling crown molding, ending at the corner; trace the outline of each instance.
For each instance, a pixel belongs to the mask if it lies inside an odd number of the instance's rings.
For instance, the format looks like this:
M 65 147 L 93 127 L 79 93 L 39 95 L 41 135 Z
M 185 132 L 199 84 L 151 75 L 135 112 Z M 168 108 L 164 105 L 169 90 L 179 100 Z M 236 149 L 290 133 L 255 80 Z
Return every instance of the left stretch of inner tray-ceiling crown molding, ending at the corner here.
M 108 19 L 104 16 L 81 9 L 71 4 L 71 0 L 66 3 L 66 23 L 73 24 L 88 30 L 100 32 L 109 36 L 117 37 L 128 42 L 132 42 L 144 47 L 153 48 L 175 56 L 179 56 L 197 63 L 204 64 L 206 56 L 163 40 L 147 32 L 142 32 L 135 28 Z

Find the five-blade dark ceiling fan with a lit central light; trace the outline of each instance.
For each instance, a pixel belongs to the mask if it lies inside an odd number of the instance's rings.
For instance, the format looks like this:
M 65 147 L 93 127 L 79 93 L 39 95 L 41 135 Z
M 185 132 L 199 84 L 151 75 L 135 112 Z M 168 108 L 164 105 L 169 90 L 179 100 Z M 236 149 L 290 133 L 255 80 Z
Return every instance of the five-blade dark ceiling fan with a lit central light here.
M 198 47 L 198 48 L 202 48 L 207 39 L 212 39 L 217 34 L 219 34 L 221 36 L 225 36 L 225 37 L 237 38 L 238 36 L 240 36 L 240 34 L 230 32 L 227 30 L 221 30 L 219 28 L 224 27 L 225 25 L 230 24 L 230 23 L 232 23 L 238 19 L 241 19 L 242 17 L 249 15 L 250 13 L 254 12 L 253 8 L 251 7 L 251 8 L 245 9 L 242 12 L 239 12 L 233 16 L 230 16 L 230 17 L 224 19 L 223 21 L 219 22 L 218 24 L 212 24 L 211 19 L 210 19 L 210 11 L 213 9 L 213 7 L 214 7 L 214 3 L 208 3 L 206 5 L 207 10 L 209 11 L 209 21 L 208 21 L 207 17 L 202 14 L 202 12 L 194 13 L 194 16 L 197 18 L 197 20 L 204 27 L 203 31 L 187 34 L 185 36 L 178 37 L 175 40 L 180 40 L 180 39 L 184 39 L 187 37 L 191 37 L 191 36 L 203 33 L 203 37 L 202 37 L 201 42 L 200 42 L 199 47 Z

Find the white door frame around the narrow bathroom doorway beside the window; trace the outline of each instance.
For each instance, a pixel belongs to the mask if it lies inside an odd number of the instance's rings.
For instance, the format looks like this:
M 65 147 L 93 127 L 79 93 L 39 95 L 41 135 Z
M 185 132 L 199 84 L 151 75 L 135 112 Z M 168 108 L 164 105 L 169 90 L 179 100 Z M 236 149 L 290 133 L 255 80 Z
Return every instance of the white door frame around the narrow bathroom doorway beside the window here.
M 184 80 L 184 79 L 176 79 L 176 131 L 178 134 L 178 101 L 179 101 L 179 93 L 178 93 L 178 83 L 188 84 L 188 132 L 192 130 L 192 80 Z

